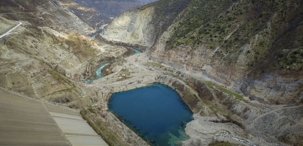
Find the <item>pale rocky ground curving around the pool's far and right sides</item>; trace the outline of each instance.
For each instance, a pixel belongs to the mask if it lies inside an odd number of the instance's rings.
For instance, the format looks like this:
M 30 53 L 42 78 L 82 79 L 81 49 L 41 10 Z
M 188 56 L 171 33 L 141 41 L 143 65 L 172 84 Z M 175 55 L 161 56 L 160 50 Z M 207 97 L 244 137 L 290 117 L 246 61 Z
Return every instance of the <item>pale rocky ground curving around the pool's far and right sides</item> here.
M 239 100 L 233 94 L 224 92 L 222 87 L 208 86 L 208 82 L 203 81 L 200 86 L 203 86 L 203 90 L 208 90 L 208 93 L 204 91 L 204 94 L 199 94 L 195 89 L 197 86 L 191 86 L 193 83 L 187 81 L 188 74 L 179 75 L 180 71 L 146 59 L 147 56 L 146 53 L 132 55 L 113 63 L 110 67 L 111 74 L 87 85 L 93 91 L 97 91 L 98 96 L 104 97 L 96 99 L 99 101 L 93 105 L 93 109 L 102 109 L 97 110 L 103 115 L 100 119 L 112 117 L 111 113 L 106 112 L 111 93 L 160 82 L 176 89 L 195 113 L 195 120 L 185 129 L 191 139 L 185 141 L 184 145 L 208 145 L 214 141 L 237 145 L 287 145 L 276 138 L 283 133 L 289 133 L 287 137 L 295 143 L 302 141 L 303 106 L 268 105 L 250 100 L 249 97 L 242 97 L 243 99 Z M 193 104 L 192 100 L 197 103 Z M 276 128 L 277 125 L 279 128 Z M 268 132 L 271 134 L 267 134 Z M 132 145 L 134 144 L 136 143 Z

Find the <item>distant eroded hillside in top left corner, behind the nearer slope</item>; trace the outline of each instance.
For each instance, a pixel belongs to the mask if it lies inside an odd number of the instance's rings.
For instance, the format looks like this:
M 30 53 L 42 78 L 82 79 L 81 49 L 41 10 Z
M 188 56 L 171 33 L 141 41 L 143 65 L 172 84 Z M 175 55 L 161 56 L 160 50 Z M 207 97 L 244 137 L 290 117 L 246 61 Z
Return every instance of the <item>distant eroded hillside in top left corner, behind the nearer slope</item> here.
M 1 16 L 8 19 L 24 20 L 57 31 L 92 31 L 87 23 L 65 9 L 57 0 L 2 0 L 0 4 Z

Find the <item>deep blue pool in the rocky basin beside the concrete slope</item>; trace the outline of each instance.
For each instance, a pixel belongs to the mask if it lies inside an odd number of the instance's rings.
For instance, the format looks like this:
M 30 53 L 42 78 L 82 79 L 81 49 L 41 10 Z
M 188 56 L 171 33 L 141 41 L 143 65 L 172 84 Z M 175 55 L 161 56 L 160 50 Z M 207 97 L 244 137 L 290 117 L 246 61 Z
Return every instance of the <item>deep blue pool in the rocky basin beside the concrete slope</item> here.
M 108 107 L 153 146 L 180 145 L 188 138 L 186 124 L 193 120 L 193 113 L 180 95 L 163 84 L 114 93 Z

